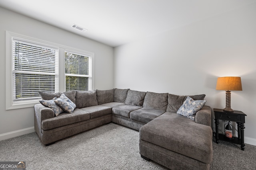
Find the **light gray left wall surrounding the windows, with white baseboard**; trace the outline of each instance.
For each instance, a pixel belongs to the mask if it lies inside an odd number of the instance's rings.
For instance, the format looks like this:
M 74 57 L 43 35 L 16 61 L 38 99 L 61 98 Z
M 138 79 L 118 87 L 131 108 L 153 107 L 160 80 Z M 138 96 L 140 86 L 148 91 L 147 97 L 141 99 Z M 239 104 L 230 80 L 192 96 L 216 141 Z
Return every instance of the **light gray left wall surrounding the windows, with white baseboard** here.
M 0 140 L 34 131 L 34 108 L 6 110 L 6 30 L 94 53 L 94 88 L 113 85 L 113 48 L 0 7 Z M 63 82 L 64 83 L 64 82 Z

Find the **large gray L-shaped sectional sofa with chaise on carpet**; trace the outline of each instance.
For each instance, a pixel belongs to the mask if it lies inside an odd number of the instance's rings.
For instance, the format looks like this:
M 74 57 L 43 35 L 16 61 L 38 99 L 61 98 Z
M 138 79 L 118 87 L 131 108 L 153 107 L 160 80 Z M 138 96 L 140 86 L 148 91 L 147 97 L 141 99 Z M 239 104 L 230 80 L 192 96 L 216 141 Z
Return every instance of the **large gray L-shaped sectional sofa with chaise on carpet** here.
M 43 100 L 62 93 L 40 92 Z M 210 169 L 212 161 L 211 109 L 203 106 L 194 120 L 176 112 L 187 96 L 130 89 L 71 90 L 63 93 L 75 105 L 60 113 L 36 104 L 35 131 L 44 145 L 114 122 L 139 131 L 140 154 L 170 169 Z M 190 96 L 204 100 L 205 95 Z

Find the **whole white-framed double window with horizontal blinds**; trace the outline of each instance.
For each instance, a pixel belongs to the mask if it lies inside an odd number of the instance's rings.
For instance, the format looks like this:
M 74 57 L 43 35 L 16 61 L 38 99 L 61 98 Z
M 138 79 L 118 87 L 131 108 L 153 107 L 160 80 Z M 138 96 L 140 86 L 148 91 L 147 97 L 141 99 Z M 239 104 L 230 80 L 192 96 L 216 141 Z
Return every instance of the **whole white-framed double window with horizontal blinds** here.
M 38 91 L 94 89 L 93 63 L 94 53 L 6 31 L 6 110 L 33 107 Z

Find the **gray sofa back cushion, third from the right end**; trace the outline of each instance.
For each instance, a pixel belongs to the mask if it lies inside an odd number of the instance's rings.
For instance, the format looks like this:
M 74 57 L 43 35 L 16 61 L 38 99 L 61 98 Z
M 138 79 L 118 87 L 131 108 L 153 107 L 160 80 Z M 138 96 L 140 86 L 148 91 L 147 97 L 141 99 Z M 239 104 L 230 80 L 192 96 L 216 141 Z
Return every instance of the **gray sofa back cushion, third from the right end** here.
M 127 97 L 124 104 L 130 104 L 134 106 L 142 106 L 146 92 L 139 92 L 135 90 L 128 90 Z

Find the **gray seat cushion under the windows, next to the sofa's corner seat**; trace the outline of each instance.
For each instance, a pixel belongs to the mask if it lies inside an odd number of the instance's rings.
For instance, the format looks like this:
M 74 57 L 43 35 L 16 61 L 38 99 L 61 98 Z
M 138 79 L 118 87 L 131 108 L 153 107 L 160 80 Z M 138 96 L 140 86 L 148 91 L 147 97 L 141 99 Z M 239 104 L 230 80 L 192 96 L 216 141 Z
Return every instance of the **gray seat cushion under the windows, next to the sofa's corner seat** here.
M 82 108 L 82 110 L 90 113 L 90 119 L 112 113 L 112 109 L 110 107 L 101 106 L 101 105 L 84 107 Z

